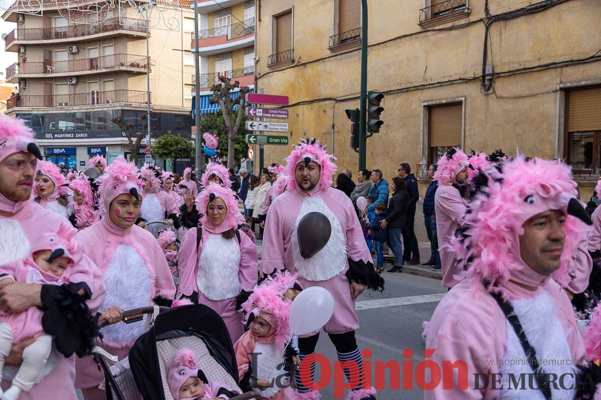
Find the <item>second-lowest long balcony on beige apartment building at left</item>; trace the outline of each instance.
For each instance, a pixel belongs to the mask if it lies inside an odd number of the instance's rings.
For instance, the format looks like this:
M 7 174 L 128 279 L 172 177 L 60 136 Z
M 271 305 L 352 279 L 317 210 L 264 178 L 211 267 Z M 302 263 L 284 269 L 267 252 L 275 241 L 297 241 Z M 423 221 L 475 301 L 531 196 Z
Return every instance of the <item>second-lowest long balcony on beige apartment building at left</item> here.
M 146 68 L 146 56 L 123 53 L 68 61 L 15 62 L 6 69 L 6 81 L 17 83 L 20 78 L 96 75 L 111 71 L 146 73 Z

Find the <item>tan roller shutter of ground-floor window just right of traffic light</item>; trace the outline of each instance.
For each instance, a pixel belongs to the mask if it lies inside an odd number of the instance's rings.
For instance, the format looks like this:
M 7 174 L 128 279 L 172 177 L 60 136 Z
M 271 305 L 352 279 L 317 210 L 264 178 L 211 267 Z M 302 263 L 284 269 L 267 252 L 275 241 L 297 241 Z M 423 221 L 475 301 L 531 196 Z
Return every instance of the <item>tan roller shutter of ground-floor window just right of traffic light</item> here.
M 430 107 L 430 147 L 461 146 L 462 104 Z

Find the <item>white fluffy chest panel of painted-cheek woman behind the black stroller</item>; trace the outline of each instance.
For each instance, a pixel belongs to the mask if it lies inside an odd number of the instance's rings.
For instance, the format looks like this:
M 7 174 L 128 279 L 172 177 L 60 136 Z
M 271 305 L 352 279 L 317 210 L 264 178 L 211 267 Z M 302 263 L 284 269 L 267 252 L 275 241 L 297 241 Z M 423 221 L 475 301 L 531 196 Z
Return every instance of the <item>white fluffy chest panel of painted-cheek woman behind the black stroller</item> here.
M 105 270 L 106 294 L 100 310 L 118 306 L 124 310 L 145 307 L 154 297 L 154 278 L 133 246 L 117 245 Z M 144 322 L 118 323 L 102 329 L 105 341 L 115 346 L 131 344 L 141 335 Z

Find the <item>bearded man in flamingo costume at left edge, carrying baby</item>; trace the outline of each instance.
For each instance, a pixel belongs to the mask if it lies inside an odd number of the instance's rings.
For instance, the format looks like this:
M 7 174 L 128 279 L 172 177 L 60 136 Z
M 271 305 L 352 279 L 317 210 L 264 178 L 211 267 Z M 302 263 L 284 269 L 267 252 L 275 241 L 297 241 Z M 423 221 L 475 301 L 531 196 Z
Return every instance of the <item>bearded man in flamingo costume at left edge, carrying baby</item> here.
M 77 233 L 66 218 L 31 201 L 37 170 L 36 158 L 41 160 L 41 154 L 34 143 L 32 131 L 20 119 L 0 116 L 1 264 L 29 257 L 31 243 L 41 234 L 61 232 L 60 236 L 64 239 L 72 239 Z M 96 312 L 105 294 L 105 282 L 96 264 L 87 255 L 84 255 L 81 263 L 94 275 L 93 285 L 90 287 L 92 297 L 87 300 L 87 305 L 91 312 Z M 4 309 L 11 313 L 25 311 L 31 306 L 49 307 L 55 298 L 53 293 L 63 288 L 64 286 L 15 282 L 0 289 L 0 300 L 5 304 Z M 65 290 L 62 296 L 72 294 Z M 47 329 L 44 320 L 42 327 Z M 13 348 L 20 351 L 31 343 L 32 339 L 24 340 Z M 20 357 L 8 356 L 5 359 L 2 389 L 6 390 L 11 385 L 6 366 L 18 367 L 20 364 Z M 19 399 L 43 399 L 47 398 L 48 393 L 52 393 L 57 399 L 76 400 L 78 397 L 73 386 L 74 378 L 75 357 L 63 357 L 53 350 L 46 367 L 38 376 L 39 383 L 29 392 L 21 393 Z

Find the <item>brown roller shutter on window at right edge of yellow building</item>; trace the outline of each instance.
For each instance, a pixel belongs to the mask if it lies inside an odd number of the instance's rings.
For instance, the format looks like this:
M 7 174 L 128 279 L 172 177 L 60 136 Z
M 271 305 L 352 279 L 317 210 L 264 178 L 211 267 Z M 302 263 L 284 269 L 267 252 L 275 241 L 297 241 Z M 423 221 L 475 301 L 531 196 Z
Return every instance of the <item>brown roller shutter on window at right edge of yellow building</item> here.
M 601 131 L 601 88 L 570 92 L 569 132 Z

